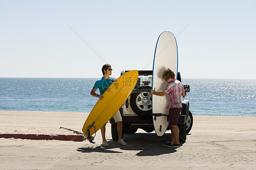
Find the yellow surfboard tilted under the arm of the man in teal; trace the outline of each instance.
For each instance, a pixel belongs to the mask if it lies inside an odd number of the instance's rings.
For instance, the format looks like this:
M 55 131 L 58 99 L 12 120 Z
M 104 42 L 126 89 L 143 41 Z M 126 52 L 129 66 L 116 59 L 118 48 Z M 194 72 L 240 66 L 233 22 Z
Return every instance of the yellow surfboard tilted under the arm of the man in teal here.
M 137 80 L 138 70 L 132 70 L 121 75 L 107 88 L 103 93 L 104 99 L 98 100 L 88 115 L 82 128 L 84 134 L 88 135 L 88 128 L 91 125 L 95 128 L 90 128 L 90 135 L 95 134 L 96 131 L 115 115 L 132 93 Z

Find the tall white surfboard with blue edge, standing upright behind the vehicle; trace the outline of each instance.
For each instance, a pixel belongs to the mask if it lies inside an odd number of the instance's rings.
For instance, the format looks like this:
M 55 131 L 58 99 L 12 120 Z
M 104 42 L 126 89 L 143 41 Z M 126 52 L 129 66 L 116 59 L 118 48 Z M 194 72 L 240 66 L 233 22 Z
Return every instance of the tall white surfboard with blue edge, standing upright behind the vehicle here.
M 165 31 L 158 37 L 153 63 L 152 89 L 156 92 L 165 90 L 168 85 L 162 80 L 163 70 L 171 69 L 177 76 L 178 71 L 178 50 L 174 35 Z M 152 95 L 152 118 L 154 129 L 158 136 L 163 136 L 169 125 L 168 96 Z

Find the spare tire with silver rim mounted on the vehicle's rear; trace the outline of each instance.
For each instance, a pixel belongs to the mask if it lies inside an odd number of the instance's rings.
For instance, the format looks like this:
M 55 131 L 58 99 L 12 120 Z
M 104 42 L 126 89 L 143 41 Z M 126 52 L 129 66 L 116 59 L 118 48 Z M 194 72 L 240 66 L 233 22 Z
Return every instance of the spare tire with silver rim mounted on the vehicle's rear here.
M 141 119 L 152 119 L 152 94 L 151 86 L 140 86 L 136 88 L 130 97 L 132 111 Z

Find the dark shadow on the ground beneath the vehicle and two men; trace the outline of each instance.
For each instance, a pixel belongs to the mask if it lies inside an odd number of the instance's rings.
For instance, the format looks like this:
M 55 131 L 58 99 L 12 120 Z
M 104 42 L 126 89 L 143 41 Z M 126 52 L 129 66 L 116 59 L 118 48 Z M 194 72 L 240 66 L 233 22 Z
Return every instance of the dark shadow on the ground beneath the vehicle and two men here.
M 121 150 L 136 150 L 139 151 L 137 156 L 155 156 L 176 152 L 176 148 L 164 147 L 163 143 L 170 140 L 171 134 L 164 134 L 163 136 L 157 136 L 155 133 L 135 133 L 125 134 L 124 141 L 128 144 L 122 146 L 118 142 L 108 140 L 110 146 L 96 146 L 96 147 L 83 147 L 78 148 L 77 151 L 90 153 L 90 152 L 102 152 L 102 153 L 122 153 L 120 151 L 114 151 L 111 149 L 120 148 Z M 182 143 L 180 143 L 182 145 Z

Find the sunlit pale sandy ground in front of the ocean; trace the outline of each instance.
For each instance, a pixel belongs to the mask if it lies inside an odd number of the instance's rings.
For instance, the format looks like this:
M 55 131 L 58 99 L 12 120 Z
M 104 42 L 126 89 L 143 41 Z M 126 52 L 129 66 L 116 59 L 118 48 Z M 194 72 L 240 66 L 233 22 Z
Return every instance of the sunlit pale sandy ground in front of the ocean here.
M 88 113 L 0 111 L 0 134 L 64 134 L 82 132 Z M 194 123 L 180 148 L 162 146 L 170 139 L 139 129 L 124 134 L 127 146 L 112 140 L 103 147 L 63 140 L 0 138 L 1 169 L 256 169 L 256 117 L 193 116 Z

